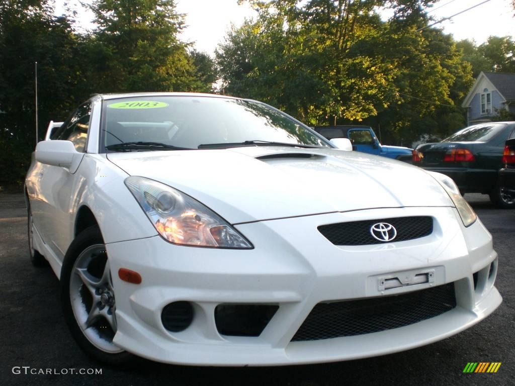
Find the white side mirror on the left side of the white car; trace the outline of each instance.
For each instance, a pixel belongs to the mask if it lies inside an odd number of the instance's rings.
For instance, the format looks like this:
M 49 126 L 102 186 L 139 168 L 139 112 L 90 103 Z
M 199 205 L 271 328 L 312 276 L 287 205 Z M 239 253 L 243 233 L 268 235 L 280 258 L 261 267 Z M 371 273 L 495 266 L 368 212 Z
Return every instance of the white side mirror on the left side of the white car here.
M 41 141 L 36 146 L 36 161 L 46 165 L 61 166 L 74 173 L 84 153 L 75 150 L 71 141 Z

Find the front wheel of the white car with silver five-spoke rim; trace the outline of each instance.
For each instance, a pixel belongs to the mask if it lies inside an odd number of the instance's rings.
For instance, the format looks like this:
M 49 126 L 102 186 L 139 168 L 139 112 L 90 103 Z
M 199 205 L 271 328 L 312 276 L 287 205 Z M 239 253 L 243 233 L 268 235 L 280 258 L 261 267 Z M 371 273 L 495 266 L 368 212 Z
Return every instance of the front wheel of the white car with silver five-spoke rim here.
M 61 305 L 73 338 L 91 357 L 121 364 L 132 354 L 113 343 L 116 303 L 106 246 L 98 226 L 81 232 L 64 256 Z

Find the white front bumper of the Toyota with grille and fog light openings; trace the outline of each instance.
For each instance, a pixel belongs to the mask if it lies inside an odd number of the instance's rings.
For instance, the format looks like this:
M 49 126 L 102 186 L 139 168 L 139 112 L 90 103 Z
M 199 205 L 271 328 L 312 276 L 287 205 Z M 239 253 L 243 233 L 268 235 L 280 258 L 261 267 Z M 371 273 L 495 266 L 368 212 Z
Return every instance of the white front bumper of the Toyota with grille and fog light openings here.
M 316 230 L 321 224 L 417 215 L 435 219 L 430 236 L 338 247 Z M 114 342 L 138 356 L 166 363 L 339 361 L 394 353 L 449 337 L 484 319 L 502 301 L 493 285 L 497 255 L 490 234 L 479 220 L 465 229 L 454 208 L 359 210 L 236 228 L 255 249 L 180 247 L 159 236 L 107 244 L 116 294 Z M 142 283 L 120 280 L 114 273 L 122 267 L 139 272 Z M 382 275 L 427 270 L 435 273 L 433 283 L 384 291 L 377 287 Z M 445 283 L 454 283 L 457 306 L 437 317 L 371 334 L 291 342 L 320 302 L 402 294 Z M 161 311 L 175 301 L 191 302 L 195 317 L 188 328 L 174 333 L 163 327 Z M 260 336 L 228 337 L 220 335 L 215 324 L 214 310 L 221 303 L 274 304 L 279 309 Z

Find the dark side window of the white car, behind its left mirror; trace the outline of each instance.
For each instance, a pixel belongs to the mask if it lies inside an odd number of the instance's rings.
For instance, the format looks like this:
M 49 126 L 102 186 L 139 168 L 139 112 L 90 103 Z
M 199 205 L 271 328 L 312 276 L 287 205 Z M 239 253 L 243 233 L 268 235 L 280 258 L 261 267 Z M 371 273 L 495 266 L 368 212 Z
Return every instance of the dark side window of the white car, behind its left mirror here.
M 91 103 L 84 103 L 68 118 L 50 139 L 71 141 L 77 151 L 83 152 L 90 126 Z

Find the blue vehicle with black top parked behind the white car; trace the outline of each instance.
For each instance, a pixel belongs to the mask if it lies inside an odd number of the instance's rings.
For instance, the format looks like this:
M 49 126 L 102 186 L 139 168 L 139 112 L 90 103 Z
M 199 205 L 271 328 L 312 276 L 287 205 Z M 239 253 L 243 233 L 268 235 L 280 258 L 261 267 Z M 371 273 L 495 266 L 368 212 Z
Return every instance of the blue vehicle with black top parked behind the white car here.
M 411 162 L 411 151 L 413 149 L 381 145 L 369 126 L 315 126 L 313 129 L 327 139 L 349 138 L 353 150 Z

